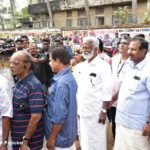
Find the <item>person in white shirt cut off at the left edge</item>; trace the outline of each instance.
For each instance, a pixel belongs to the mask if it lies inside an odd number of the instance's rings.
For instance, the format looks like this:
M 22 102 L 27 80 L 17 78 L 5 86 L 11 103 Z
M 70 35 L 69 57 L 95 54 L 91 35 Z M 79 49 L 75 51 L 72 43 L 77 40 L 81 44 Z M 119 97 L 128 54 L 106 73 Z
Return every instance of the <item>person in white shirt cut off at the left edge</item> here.
M 10 130 L 10 118 L 12 118 L 12 87 L 8 80 L 0 75 L 0 149 L 7 150 L 9 130 Z M 10 150 L 10 148 L 9 148 Z

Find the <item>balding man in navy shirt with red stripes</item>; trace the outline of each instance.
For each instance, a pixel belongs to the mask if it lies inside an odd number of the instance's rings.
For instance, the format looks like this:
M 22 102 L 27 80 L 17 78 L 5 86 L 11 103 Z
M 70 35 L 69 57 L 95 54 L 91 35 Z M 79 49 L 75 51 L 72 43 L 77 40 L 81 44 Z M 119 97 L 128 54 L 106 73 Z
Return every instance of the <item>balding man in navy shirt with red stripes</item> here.
M 10 67 L 13 75 L 19 78 L 13 93 L 13 149 L 26 150 L 29 147 L 30 150 L 41 150 L 44 138 L 44 94 L 41 83 L 32 73 L 31 55 L 26 51 L 17 51 L 10 58 Z

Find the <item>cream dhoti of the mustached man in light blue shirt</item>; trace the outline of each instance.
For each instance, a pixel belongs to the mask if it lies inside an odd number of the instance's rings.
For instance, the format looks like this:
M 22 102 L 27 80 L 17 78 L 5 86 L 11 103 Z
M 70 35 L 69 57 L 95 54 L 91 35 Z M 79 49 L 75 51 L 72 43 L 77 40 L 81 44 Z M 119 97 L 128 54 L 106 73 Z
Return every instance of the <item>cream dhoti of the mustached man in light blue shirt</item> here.
M 142 135 L 141 130 L 129 129 L 117 124 L 114 150 L 150 150 L 147 138 Z

